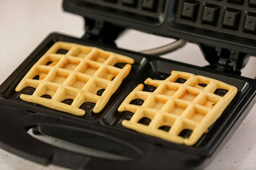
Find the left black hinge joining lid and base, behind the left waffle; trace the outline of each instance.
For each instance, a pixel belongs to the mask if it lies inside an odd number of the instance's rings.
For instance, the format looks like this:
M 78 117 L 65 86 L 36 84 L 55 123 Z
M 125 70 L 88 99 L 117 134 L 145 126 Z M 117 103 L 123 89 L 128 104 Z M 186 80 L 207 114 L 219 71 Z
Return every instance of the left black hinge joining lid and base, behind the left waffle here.
M 84 24 L 85 34 L 82 39 L 104 42 L 115 46 L 115 40 L 125 30 L 125 27 L 86 17 L 84 17 Z

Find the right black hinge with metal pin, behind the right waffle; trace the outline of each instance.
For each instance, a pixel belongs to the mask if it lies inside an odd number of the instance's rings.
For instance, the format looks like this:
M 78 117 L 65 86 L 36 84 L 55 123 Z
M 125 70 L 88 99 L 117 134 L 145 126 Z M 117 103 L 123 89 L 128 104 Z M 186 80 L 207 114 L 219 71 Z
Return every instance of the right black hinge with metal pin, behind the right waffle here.
M 227 48 L 199 45 L 205 59 L 210 63 L 207 68 L 241 75 L 241 69 L 247 64 L 250 55 Z

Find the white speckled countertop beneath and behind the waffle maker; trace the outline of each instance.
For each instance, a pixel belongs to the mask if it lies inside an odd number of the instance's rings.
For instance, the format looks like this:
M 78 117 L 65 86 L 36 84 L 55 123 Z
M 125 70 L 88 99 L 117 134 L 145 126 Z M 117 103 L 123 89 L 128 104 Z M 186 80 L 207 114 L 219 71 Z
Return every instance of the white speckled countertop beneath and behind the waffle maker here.
M 0 83 L 50 32 L 60 31 L 75 37 L 83 34 L 82 18 L 64 13 L 61 0 L 0 0 L 0 11 Z M 118 40 L 118 45 L 131 50 L 142 50 L 169 41 L 166 38 L 130 31 Z M 193 44 L 164 57 L 199 66 L 207 65 L 198 46 Z M 255 77 L 255 64 L 256 58 L 251 58 L 242 75 Z M 253 107 L 243 124 L 206 170 L 256 170 L 255 111 L 256 107 Z M 60 146 L 62 147 L 61 143 Z M 0 170 L 24 169 L 61 170 L 54 166 L 44 167 L 0 150 Z

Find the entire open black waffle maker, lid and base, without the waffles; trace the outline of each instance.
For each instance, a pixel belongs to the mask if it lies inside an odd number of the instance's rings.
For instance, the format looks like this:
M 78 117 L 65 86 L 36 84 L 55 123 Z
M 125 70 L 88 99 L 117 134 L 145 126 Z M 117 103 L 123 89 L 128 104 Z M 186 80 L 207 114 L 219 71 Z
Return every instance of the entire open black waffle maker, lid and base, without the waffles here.
M 84 17 L 85 34 L 81 39 L 50 34 L 0 86 L 0 147 L 4 150 L 40 164 L 76 170 L 200 170 L 256 102 L 256 80 L 240 76 L 248 57 L 256 55 L 256 0 L 64 0 L 63 8 Z M 196 43 L 209 66 L 119 49 L 114 41 L 127 28 Z M 135 60 L 131 73 L 100 113 L 94 114 L 93 104 L 88 103 L 92 107 L 85 107 L 85 116 L 74 116 L 22 101 L 20 94 L 32 94 L 33 88 L 15 92 L 32 65 L 58 41 L 95 46 Z M 221 117 L 193 146 L 166 142 L 120 124 L 129 118 L 128 113 L 117 111 L 125 97 L 146 78 L 165 79 L 172 70 L 217 79 L 238 89 Z M 35 134 L 130 159 L 99 158 L 54 147 L 30 136 L 31 128 Z

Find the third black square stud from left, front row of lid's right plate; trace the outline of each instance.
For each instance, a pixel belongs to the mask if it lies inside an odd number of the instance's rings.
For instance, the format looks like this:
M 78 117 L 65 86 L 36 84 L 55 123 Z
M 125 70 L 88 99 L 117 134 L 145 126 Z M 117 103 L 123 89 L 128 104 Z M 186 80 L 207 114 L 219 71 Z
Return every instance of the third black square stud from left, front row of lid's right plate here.
M 237 30 L 241 18 L 241 10 L 236 8 L 226 8 L 223 19 L 223 27 Z

